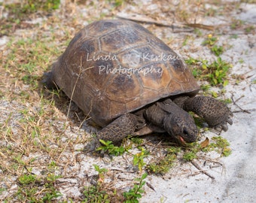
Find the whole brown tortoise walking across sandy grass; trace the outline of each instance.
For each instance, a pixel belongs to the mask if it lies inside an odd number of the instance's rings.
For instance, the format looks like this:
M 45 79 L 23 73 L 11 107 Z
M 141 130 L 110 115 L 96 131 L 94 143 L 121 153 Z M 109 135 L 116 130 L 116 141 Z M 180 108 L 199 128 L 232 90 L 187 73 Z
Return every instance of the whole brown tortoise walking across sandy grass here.
M 197 95 L 197 81 L 184 60 L 148 29 L 129 20 L 99 20 L 85 26 L 47 72 L 102 127 L 97 139 L 167 132 L 180 144 L 196 141 L 188 111 L 209 127 L 227 131 L 232 113 L 215 98 Z M 197 95 L 197 96 L 196 96 Z

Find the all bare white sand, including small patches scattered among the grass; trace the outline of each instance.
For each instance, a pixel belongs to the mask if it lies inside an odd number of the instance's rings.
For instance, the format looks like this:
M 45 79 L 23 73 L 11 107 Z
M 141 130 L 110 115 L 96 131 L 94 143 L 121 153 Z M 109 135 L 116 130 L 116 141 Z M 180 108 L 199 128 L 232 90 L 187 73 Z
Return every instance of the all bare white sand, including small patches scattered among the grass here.
M 144 2 L 147 5 L 146 2 Z M 152 11 L 157 7 L 157 4 L 148 3 Z M 138 9 L 138 8 L 137 8 Z M 130 10 L 132 12 L 133 10 Z M 126 15 L 128 11 L 123 9 L 117 15 Z M 129 12 L 128 12 L 129 14 Z M 252 25 L 256 24 L 256 5 L 255 4 L 241 4 L 239 8 L 230 11 L 228 16 L 222 17 L 206 17 L 200 20 L 200 23 L 207 25 L 218 25 L 231 23 L 231 20 L 243 20 L 245 23 Z M 85 23 L 86 24 L 86 23 Z M 158 32 L 161 28 L 157 28 L 156 35 L 161 38 L 163 32 Z M 237 34 L 237 38 L 230 38 L 230 35 Z M 169 29 L 164 29 L 166 38 L 169 36 L 184 35 L 184 33 L 173 34 Z M 0 38 L 0 46 L 4 49 L 8 42 L 8 37 Z M 200 49 L 200 43 L 203 38 L 195 39 L 190 47 L 184 47 L 187 52 L 195 48 L 197 52 L 183 53 L 187 56 L 211 59 L 209 52 Z M 198 169 L 190 163 L 178 163 L 170 170 L 168 174 L 163 177 L 149 175 L 146 179 L 147 183 L 154 187 L 154 190 L 145 186 L 145 194 L 140 199 L 140 202 L 255 202 L 256 199 L 256 37 L 255 34 L 245 34 L 244 32 L 224 29 L 220 36 L 220 44 L 229 44 L 230 49 L 226 50 L 221 56 L 222 59 L 232 62 L 233 68 L 230 71 L 231 75 L 241 75 L 243 80 L 236 83 L 236 79 L 230 77 L 230 83 L 225 87 L 227 90 L 224 98 L 233 97 L 233 104 L 229 105 L 233 111 L 233 126 L 229 126 L 227 132 L 221 135 L 227 138 L 230 142 L 232 154 L 227 157 L 219 158 L 218 154 L 212 153 L 211 159 L 198 160 L 199 165 L 215 177 L 215 180 L 207 177 L 205 174 L 198 173 Z M 176 45 L 175 45 L 176 46 Z M 178 47 L 178 46 L 177 46 Z M 242 59 L 242 63 L 239 62 Z M 237 100 L 237 102 L 236 102 Z M 2 99 L 0 102 L 1 111 L 3 112 L 3 120 L 6 119 L 8 111 L 15 111 L 17 107 L 11 107 L 8 101 Z M 15 106 L 15 102 L 12 102 Z M 8 108 L 7 108 L 8 106 Z M 241 110 L 245 110 L 242 111 Z M 5 114 L 6 113 L 6 114 Z M 20 115 L 17 114 L 16 117 Z M 15 126 L 15 125 L 14 125 Z M 14 128 L 15 129 L 15 128 Z M 80 130 L 81 133 L 84 129 Z M 69 130 L 71 138 L 75 136 Z M 213 132 L 207 132 L 206 136 L 213 136 Z M 76 146 L 80 147 L 80 145 Z M 69 154 L 69 152 L 67 153 Z M 72 153 L 70 153 L 72 154 Z M 68 156 L 67 156 L 68 157 Z M 215 163 L 212 160 L 218 159 L 221 162 L 221 167 L 215 168 Z M 42 157 L 44 159 L 44 157 Z M 45 158 L 47 159 L 47 158 Z M 66 177 L 63 180 L 69 181 L 71 185 L 60 186 L 60 192 L 69 196 L 81 195 L 79 186 L 79 178 L 84 178 L 86 175 L 96 174 L 93 171 L 93 164 L 99 164 L 108 170 L 124 170 L 126 168 L 125 161 L 122 157 L 114 158 L 114 162 L 105 162 L 101 158 L 95 158 L 87 155 L 81 155 L 81 162 L 79 165 L 73 165 L 69 168 L 70 171 L 78 169 L 77 177 Z M 118 165 L 117 165 L 118 163 Z M 33 171 L 35 174 L 37 170 Z M 118 177 L 133 180 L 135 174 L 127 174 L 126 172 L 119 172 Z M 125 180 L 124 180 L 125 181 Z M 118 184 L 117 184 L 118 185 Z M 120 183 L 125 185 L 125 183 Z M 123 186 L 125 187 L 125 186 Z M 15 186 L 13 187 L 15 189 Z M 4 197 L 8 194 L 4 193 Z M 1 195 L 0 195 L 1 197 Z

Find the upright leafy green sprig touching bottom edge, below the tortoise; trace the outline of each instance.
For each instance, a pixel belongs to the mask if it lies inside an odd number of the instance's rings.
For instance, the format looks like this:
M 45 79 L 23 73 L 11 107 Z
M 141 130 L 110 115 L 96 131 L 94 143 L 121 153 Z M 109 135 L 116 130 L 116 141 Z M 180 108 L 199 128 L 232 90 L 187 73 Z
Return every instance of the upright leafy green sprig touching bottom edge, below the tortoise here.
M 142 189 L 142 187 L 145 185 L 146 181 L 145 178 L 148 176 L 148 174 L 142 174 L 142 177 L 136 178 L 135 180 L 139 183 L 135 184 L 133 186 L 133 189 L 130 189 L 128 192 L 123 192 L 123 197 L 126 199 L 125 203 L 139 203 L 138 198 L 142 198 L 142 193 L 145 191 Z

